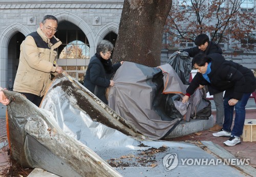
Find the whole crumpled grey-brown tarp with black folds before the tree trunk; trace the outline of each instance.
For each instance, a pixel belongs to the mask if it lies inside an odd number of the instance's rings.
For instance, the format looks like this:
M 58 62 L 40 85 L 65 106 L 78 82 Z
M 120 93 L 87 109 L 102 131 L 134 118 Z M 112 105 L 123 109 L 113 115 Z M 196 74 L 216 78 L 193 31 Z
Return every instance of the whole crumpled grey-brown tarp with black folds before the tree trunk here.
M 173 112 L 166 111 L 169 110 L 166 108 L 168 96 L 173 94 L 181 98 L 187 87 L 170 64 L 150 68 L 124 62 L 113 80 L 115 85 L 109 92 L 109 106 L 139 132 L 153 139 L 168 135 L 182 121 L 183 116 L 189 121 L 202 98 L 202 92 L 197 90 L 189 103 L 182 104 L 181 100 L 175 100 L 172 108 L 179 110 L 180 118 L 176 119 L 171 115 Z M 199 110 L 209 104 L 202 104 Z

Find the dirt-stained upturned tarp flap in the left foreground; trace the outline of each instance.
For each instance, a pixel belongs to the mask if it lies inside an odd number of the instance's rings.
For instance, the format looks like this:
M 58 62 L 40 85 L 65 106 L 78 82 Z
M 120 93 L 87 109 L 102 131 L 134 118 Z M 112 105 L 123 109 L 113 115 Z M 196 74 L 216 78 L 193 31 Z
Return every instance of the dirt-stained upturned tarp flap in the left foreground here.
M 67 136 L 61 127 L 65 123 L 56 121 L 50 112 L 53 109 L 38 108 L 15 92 L 6 95 L 11 98 L 7 106 L 11 156 L 23 167 L 60 176 L 120 176 L 94 151 Z

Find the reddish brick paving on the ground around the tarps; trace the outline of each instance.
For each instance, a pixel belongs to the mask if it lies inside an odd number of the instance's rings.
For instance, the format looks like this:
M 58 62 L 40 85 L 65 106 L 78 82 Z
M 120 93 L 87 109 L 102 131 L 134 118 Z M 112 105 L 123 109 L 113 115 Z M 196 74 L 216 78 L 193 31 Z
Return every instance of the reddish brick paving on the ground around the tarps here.
M 249 99 L 249 103 L 246 106 L 246 119 L 256 119 L 256 104 L 253 99 Z M 5 106 L 0 105 L 0 177 L 6 176 L 5 172 L 10 168 L 10 156 L 8 155 L 8 140 L 6 132 L 6 119 Z M 215 106 L 212 105 L 212 115 L 216 116 Z M 1 118 L 2 117 L 2 118 Z M 228 147 L 223 144 L 227 138 L 224 137 L 213 137 L 212 132 L 208 130 L 196 132 L 184 137 L 170 139 L 170 141 L 212 141 L 224 149 L 232 153 L 238 159 L 250 159 L 250 165 L 256 168 L 256 141 L 254 142 L 243 142 L 239 145 Z

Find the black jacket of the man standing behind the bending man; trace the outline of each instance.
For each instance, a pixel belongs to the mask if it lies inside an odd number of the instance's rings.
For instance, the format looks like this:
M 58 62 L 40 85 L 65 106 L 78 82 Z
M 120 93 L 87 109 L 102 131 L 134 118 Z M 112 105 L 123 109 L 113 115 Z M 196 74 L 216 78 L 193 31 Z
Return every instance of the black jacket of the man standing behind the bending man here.
M 222 49 L 214 41 L 210 41 L 205 51 L 200 50 L 198 47 L 184 49 L 183 51 L 187 52 L 190 57 L 194 57 L 199 53 L 204 53 L 205 55 L 218 53 L 222 54 Z

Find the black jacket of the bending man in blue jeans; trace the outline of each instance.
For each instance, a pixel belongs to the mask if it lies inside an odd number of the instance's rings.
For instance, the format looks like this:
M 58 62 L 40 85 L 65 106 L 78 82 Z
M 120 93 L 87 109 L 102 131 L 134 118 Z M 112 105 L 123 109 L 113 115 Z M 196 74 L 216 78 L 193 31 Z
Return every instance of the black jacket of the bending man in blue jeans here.
M 241 64 L 227 61 L 221 54 L 208 55 L 211 61 L 210 83 L 197 73 L 186 92 L 192 95 L 199 84 L 210 85 L 213 89 L 226 91 L 225 96 L 240 100 L 244 93 L 252 93 L 256 89 L 256 78 L 251 70 Z

